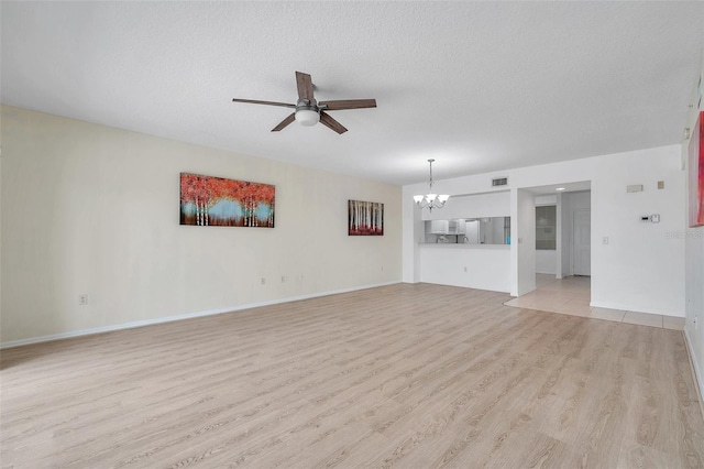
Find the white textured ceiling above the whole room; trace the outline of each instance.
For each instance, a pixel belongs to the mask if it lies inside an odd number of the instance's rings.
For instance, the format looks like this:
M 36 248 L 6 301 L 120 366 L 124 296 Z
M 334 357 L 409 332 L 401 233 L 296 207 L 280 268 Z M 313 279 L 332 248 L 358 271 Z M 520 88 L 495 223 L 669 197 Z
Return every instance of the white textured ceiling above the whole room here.
M 6 105 L 394 184 L 679 143 L 704 2 L 8 2 Z M 350 129 L 270 130 L 294 72 Z

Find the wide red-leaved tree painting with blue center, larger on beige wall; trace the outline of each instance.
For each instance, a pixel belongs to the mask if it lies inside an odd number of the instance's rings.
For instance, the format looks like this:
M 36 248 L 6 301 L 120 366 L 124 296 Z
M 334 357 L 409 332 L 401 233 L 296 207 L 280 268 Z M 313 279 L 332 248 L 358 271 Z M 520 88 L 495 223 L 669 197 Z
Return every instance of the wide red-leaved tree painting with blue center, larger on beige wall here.
M 270 184 L 180 173 L 180 225 L 274 228 Z

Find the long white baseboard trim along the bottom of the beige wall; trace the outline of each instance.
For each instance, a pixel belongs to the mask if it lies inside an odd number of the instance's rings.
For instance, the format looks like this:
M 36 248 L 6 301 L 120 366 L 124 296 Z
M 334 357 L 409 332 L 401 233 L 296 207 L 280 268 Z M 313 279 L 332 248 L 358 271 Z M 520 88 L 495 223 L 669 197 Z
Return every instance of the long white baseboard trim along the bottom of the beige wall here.
M 320 296 L 330 296 L 330 295 L 338 295 L 340 293 L 355 292 L 355 291 L 359 291 L 359 290 L 367 290 L 367 288 L 375 288 L 375 287 L 378 287 L 378 286 L 395 285 L 397 283 L 399 283 L 399 282 L 387 282 L 387 283 L 378 283 L 378 284 L 374 284 L 374 285 L 354 286 L 354 287 L 351 287 L 351 288 L 342 288 L 342 290 L 334 290 L 334 291 L 330 291 L 330 292 L 311 293 L 311 294 L 308 294 L 308 295 L 292 296 L 292 297 L 282 298 L 282 299 L 271 299 L 271 301 L 267 301 L 267 302 L 249 303 L 249 304 L 245 304 L 245 305 L 230 306 L 230 307 L 226 307 L 226 308 L 208 309 L 208 310 L 205 310 L 205 312 L 196 312 L 196 313 L 187 313 L 187 314 L 183 314 L 183 315 L 178 315 L 178 316 L 160 317 L 160 318 L 155 318 L 155 319 L 146 319 L 146 320 L 138 320 L 138 321 L 134 321 L 134 323 L 118 324 L 118 325 L 114 325 L 114 326 L 94 327 L 94 328 L 90 328 L 90 329 L 72 330 L 72 331 L 68 331 L 68 332 L 52 334 L 51 336 L 32 337 L 32 338 L 29 338 L 29 339 L 11 340 L 11 341 L 8 341 L 8 342 L 0 342 L 0 349 L 9 349 L 11 347 L 28 346 L 28 345 L 31 345 L 31 343 L 48 342 L 48 341 L 52 341 L 52 340 L 68 339 L 68 338 L 72 338 L 72 337 L 90 336 L 90 335 L 94 335 L 94 334 L 112 332 L 112 331 L 116 331 L 116 330 L 132 329 L 132 328 L 135 328 L 135 327 L 143 327 L 143 326 L 152 326 L 154 324 L 172 323 L 172 321 L 182 320 L 182 319 L 191 319 L 191 318 L 195 318 L 195 317 L 212 316 L 212 315 L 223 314 L 223 313 L 233 313 L 233 312 L 242 310 L 242 309 L 258 308 L 261 306 L 277 305 L 277 304 L 282 304 L 282 303 L 297 302 L 297 301 L 300 301 L 300 299 L 309 299 L 309 298 L 317 298 L 317 297 L 320 297 Z

